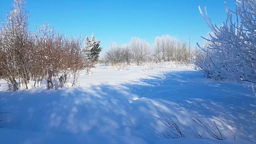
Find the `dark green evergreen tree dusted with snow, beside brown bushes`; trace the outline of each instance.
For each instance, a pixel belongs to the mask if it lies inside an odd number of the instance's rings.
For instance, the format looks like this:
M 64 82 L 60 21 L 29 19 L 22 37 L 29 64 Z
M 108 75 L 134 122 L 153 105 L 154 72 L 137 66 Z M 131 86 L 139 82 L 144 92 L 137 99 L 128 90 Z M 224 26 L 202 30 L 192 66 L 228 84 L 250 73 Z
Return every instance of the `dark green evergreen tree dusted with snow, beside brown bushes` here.
M 88 36 L 85 37 L 85 45 L 84 45 L 84 48 L 82 49 L 82 52 L 84 52 L 87 60 L 86 62 L 87 74 L 89 74 L 90 69 L 94 67 L 94 64 L 98 62 L 101 50 L 102 50 L 102 47 L 100 47 L 100 40 L 97 41 L 93 33 L 91 35 L 91 40 L 88 38 Z

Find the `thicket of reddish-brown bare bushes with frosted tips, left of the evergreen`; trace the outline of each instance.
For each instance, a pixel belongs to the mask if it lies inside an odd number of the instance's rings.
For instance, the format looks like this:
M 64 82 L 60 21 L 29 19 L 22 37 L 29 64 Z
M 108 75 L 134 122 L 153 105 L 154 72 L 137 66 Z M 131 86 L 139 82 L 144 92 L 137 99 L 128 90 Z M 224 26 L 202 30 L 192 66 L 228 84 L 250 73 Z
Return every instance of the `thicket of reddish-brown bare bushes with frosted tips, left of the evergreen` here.
M 20 84 L 47 82 L 47 89 L 58 82 L 72 78 L 76 85 L 79 70 L 84 68 L 81 38 L 66 37 L 45 22 L 38 30 L 28 29 L 26 1 L 14 0 L 10 14 L 0 26 L 0 78 L 8 82 L 9 90 L 18 90 Z M 64 72 L 64 81 L 59 80 Z M 58 82 L 56 82 L 58 81 Z M 63 87 L 64 84 L 58 84 Z

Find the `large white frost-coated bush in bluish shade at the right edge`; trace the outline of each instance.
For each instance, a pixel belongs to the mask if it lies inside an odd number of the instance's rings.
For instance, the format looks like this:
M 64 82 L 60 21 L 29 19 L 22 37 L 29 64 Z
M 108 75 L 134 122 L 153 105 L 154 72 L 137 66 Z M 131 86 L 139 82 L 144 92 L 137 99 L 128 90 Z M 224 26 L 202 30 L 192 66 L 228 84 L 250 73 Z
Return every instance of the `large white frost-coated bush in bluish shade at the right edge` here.
M 227 20 L 221 26 L 212 24 L 206 8 L 202 14 L 212 32 L 204 38 L 209 44 L 201 49 L 195 65 L 208 77 L 256 82 L 256 1 L 236 1 L 232 11 L 226 6 Z M 233 16 L 234 15 L 234 16 Z M 235 22 L 233 22 L 235 21 Z

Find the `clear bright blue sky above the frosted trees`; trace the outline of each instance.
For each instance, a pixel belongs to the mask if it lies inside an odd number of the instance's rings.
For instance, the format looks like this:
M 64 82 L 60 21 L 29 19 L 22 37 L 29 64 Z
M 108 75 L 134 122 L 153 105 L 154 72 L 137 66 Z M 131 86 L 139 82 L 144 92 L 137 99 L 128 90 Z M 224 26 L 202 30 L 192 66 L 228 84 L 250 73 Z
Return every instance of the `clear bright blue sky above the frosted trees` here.
M 153 47 L 156 36 L 170 34 L 180 40 L 190 35 L 193 46 L 202 43 L 200 36 L 210 32 L 198 6 L 206 6 L 212 21 L 226 20 L 224 0 L 26 0 L 30 28 L 47 21 L 66 35 L 91 35 L 99 40 L 103 50 L 110 39 L 118 45 L 132 37 L 145 39 Z M 5 14 L 13 0 L 0 0 L 0 12 Z M 234 0 L 227 0 L 234 9 Z

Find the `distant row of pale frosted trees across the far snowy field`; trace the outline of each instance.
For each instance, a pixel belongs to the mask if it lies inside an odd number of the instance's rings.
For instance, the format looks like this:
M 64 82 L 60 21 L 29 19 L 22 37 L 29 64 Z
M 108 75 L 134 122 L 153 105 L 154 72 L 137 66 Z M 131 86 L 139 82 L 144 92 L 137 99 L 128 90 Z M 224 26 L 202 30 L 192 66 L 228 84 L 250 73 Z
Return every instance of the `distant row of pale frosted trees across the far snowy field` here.
M 150 48 L 148 42 L 140 38 L 132 37 L 129 44 L 117 46 L 110 45 L 102 58 L 106 64 L 121 68 L 124 64 L 135 63 L 137 65 L 145 62 L 182 62 L 190 64 L 193 50 L 190 38 L 188 42 L 178 40 L 174 36 L 156 36 L 154 47 Z

